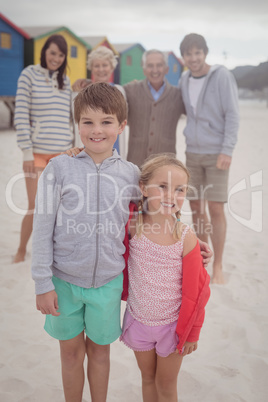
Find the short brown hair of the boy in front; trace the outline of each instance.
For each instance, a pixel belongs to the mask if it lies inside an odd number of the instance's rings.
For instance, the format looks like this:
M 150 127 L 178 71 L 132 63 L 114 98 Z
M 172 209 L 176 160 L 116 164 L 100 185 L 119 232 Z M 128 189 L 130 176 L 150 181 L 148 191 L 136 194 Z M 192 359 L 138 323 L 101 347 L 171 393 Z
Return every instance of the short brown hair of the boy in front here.
M 102 110 L 106 114 L 115 114 L 121 124 L 127 118 L 127 103 L 123 94 L 106 82 L 90 84 L 74 99 L 74 119 L 79 123 L 81 114 L 87 109 Z

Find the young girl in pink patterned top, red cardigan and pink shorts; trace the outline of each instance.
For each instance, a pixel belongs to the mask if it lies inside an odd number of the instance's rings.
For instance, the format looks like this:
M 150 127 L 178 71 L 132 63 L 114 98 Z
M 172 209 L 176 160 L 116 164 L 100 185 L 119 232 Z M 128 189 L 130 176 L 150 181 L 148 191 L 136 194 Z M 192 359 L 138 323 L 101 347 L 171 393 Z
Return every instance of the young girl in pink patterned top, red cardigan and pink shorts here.
M 189 173 L 173 154 L 147 160 L 138 214 L 130 222 L 127 307 L 120 338 L 134 350 L 144 402 L 177 401 L 185 355 L 197 349 L 209 275 L 189 226 L 180 221 Z

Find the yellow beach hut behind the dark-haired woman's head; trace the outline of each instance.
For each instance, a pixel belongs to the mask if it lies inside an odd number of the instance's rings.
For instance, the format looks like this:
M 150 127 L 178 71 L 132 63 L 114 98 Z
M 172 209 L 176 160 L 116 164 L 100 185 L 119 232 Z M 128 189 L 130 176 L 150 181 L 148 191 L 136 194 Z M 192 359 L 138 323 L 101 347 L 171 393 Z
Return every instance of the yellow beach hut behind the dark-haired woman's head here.
M 39 64 L 41 49 L 51 35 L 62 35 L 68 44 L 68 67 L 67 75 L 71 80 L 71 84 L 78 78 L 86 78 L 86 60 L 87 51 L 91 47 L 76 36 L 69 28 L 64 26 L 38 26 L 25 27 L 24 30 L 31 37 L 26 42 L 25 65 Z

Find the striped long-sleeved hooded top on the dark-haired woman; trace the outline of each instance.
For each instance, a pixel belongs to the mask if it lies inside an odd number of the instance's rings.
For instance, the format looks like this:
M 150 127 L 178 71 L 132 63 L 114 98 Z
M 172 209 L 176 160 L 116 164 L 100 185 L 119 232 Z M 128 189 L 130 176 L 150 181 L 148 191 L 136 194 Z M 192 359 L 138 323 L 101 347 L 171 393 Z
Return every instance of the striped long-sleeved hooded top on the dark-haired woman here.
M 33 160 L 33 153 L 57 154 L 72 147 L 70 81 L 64 77 L 60 90 L 57 74 L 30 65 L 19 77 L 14 123 L 24 161 Z

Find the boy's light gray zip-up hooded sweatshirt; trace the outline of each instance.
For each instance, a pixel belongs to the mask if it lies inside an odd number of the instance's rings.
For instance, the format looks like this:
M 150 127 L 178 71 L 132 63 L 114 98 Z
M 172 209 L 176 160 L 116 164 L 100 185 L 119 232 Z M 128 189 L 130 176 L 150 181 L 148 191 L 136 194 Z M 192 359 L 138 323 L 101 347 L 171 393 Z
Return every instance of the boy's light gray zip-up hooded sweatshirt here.
M 140 197 L 139 169 L 113 156 L 98 167 L 82 151 L 53 158 L 36 195 L 32 276 L 36 294 L 54 289 L 52 275 L 100 287 L 124 269 L 129 202 Z

